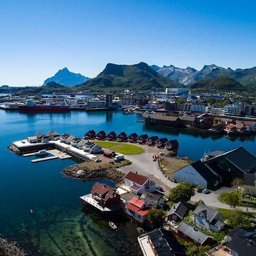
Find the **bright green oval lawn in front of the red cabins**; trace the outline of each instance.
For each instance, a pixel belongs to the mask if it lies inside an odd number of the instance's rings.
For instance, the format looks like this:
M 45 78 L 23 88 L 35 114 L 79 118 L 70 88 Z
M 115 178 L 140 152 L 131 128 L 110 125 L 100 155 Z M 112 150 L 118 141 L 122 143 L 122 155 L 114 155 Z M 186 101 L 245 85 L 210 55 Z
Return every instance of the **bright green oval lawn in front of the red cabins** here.
M 97 143 L 101 147 L 109 148 L 110 150 L 124 155 L 136 155 L 144 152 L 143 148 L 126 143 L 112 141 L 96 141 L 95 143 Z

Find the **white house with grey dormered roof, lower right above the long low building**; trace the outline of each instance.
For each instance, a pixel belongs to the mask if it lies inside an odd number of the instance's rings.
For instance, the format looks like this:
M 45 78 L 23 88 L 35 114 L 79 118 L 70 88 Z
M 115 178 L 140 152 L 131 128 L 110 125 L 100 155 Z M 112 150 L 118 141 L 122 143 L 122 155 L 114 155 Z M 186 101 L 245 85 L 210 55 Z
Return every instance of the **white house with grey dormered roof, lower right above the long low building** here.
M 199 204 L 193 211 L 193 214 L 195 224 L 204 229 L 219 232 L 224 228 L 222 214 L 218 212 L 218 210 L 210 208 L 205 204 Z

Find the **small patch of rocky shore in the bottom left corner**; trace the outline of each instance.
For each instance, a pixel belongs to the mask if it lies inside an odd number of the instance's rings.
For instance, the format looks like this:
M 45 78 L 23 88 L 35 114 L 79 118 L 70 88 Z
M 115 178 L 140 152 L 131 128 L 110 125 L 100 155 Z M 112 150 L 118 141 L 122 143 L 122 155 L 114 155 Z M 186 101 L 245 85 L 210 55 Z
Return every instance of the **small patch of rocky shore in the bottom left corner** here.
M 1 235 L 0 235 L 1 236 Z M 22 249 L 19 249 L 17 242 L 9 242 L 0 237 L 0 256 L 24 256 L 28 255 Z

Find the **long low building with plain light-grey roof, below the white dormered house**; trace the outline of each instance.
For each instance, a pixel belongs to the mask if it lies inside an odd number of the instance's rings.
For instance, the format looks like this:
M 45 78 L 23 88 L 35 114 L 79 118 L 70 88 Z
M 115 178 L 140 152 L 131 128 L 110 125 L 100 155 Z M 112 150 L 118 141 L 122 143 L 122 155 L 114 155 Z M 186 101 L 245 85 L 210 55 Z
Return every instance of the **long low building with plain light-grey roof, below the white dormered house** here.
M 177 226 L 177 235 L 199 245 L 210 243 L 213 238 L 185 222 L 181 222 L 181 224 Z

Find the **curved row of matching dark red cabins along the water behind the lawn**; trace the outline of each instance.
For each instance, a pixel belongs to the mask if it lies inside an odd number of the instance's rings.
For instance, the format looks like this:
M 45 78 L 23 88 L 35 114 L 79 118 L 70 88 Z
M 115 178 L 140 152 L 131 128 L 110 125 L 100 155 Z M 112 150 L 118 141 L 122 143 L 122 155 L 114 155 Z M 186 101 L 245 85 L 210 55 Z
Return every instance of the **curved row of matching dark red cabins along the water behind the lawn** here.
M 158 136 L 148 137 L 147 134 L 138 135 L 132 133 L 127 135 L 125 132 L 116 134 L 114 131 L 106 134 L 105 131 L 99 131 L 96 133 L 94 130 L 90 130 L 84 135 L 85 139 L 97 139 L 98 141 L 117 141 L 117 142 L 131 142 L 146 144 L 148 146 L 156 146 L 158 148 L 166 148 L 167 150 L 177 150 L 179 148 L 179 142 L 176 139 L 171 141 L 168 138 L 158 138 Z

